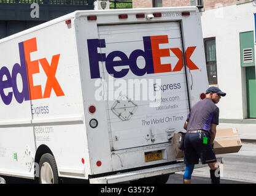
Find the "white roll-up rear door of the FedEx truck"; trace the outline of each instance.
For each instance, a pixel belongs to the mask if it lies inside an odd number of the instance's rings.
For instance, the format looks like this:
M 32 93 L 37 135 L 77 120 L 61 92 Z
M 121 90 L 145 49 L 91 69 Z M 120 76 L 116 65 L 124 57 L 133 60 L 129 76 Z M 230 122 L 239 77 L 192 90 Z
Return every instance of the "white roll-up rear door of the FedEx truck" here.
M 169 142 L 189 110 L 179 22 L 103 25 L 98 37 L 112 149 Z

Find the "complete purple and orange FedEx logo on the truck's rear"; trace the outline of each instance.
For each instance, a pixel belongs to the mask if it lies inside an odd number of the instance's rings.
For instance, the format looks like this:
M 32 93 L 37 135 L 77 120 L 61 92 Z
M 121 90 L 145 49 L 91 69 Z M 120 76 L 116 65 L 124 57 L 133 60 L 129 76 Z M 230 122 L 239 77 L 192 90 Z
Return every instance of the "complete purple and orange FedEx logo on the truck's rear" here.
M 157 74 L 164 72 L 179 72 L 184 66 L 182 51 L 179 48 L 165 48 L 160 49 L 160 43 L 168 43 L 168 36 L 147 36 L 143 37 L 144 50 L 134 50 L 128 57 L 122 51 L 112 51 L 106 56 L 105 53 L 98 53 L 98 48 L 106 48 L 106 43 L 104 39 L 88 39 L 88 54 L 90 62 L 90 74 L 91 78 L 100 78 L 99 73 L 99 61 L 106 62 L 106 70 L 114 78 L 122 78 L 128 74 L 129 70 L 137 76 L 142 76 L 144 74 Z M 199 69 L 194 62 L 190 59 L 193 51 L 196 47 L 188 47 L 185 51 L 186 65 L 190 70 Z M 171 69 L 171 64 L 161 64 L 161 57 L 170 56 L 170 50 L 177 56 L 179 61 Z M 137 58 L 142 56 L 145 59 L 145 67 L 143 69 L 137 66 Z M 120 61 L 114 61 L 114 58 L 118 57 Z M 126 66 L 128 65 L 130 69 L 122 69 L 117 71 L 114 67 Z

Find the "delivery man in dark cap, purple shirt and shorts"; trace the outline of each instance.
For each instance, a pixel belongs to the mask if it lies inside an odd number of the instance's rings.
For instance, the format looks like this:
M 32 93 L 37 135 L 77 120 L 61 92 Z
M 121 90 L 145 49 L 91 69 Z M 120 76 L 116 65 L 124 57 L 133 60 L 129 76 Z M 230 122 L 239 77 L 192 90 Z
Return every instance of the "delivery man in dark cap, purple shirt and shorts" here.
M 219 108 L 215 104 L 225 95 L 219 88 L 211 86 L 206 90 L 206 99 L 196 103 L 188 114 L 184 124 L 187 130 L 184 137 L 185 184 L 191 183 L 193 168 L 199 159 L 202 164 L 209 165 L 212 183 L 220 183 L 219 165 L 213 149 L 216 126 L 219 124 Z

